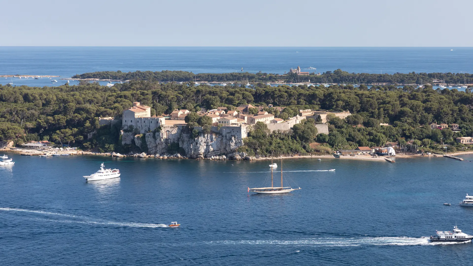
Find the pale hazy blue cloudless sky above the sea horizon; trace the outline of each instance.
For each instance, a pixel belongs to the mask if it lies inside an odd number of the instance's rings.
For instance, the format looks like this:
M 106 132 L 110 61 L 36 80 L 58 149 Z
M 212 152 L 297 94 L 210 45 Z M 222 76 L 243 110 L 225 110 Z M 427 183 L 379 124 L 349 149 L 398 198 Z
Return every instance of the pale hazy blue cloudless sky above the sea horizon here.
M 0 45 L 473 46 L 472 0 L 2 1 Z

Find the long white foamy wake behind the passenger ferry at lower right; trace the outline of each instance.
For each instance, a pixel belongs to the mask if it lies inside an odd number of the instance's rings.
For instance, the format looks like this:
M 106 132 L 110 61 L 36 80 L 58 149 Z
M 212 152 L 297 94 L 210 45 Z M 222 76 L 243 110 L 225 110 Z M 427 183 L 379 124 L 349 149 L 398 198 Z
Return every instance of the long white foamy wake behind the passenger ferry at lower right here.
M 467 243 L 465 241 L 461 243 Z M 429 238 L 410 237 L 364 237 L 364 238 L 320 238 L 301 240 L 222 240 L 210 241 L 206 244 L 220 245 L 299 245 L 313 247 L 359 247 L 359 246 L 416 246 L 416 245 L 445 245 L 461 244 L 458 242 L 430 242 Z

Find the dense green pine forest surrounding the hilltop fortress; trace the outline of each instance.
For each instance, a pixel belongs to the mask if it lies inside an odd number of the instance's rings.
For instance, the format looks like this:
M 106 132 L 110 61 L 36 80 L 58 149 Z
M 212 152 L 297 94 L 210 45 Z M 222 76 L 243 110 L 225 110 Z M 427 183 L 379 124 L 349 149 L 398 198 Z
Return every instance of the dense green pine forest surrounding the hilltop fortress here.
M 409 140 L 425 151 L 440 152 L 444 143 L 450 144 L 448 151 L 457 151 L 471 145 L 455 143 L 455 137 L 473 133 L 473 94 L 456 89 L 393 85 L 370 89 L 351 85 L 271 87 L 263 83 L 245 88 L 237 84 L 194 86 L 136 80 L 113 87 L 88 82 L 43 88 L 0 85 L 0 141 L 13 140 L 17 144 L 47 140 L 83 150 L 140 151 L 140 147 L 121 144 L 121 125 L 99 125 L 99 117 L 120 118 L 135 101 L 151 106 L 152 115 L 169 114 L 175 108 L 197 111 L 201 107 L 226 106 L 235 110 L 247 103 L 286 106 L 282 112 L 266 108 L 284 118 L 296 115 L 299 109 L 351 113 L 346 119 L 327 117 L 328 135 L 317 133 L 313 126 L 317 122 L 311 119 L 285 132 L 271 133 L 265 124 L 257 124 L 239 150 L 260 155 L 315 154 Z M 460 131 L 431 129 L 432 122 L 459 124 Z M 320 144 L 313 145 L 315 142 Z

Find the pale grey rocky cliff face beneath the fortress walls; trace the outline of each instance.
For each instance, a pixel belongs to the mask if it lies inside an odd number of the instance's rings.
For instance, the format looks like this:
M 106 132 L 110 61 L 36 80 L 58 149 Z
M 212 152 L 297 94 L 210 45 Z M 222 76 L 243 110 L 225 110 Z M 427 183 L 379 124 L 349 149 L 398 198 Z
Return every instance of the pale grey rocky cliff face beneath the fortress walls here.
M 156 133 L 146 133 L 146 145 L 148 154 L 167 154 L 168 146 L 177 143 L 189 158 L 210 158 L 217 155 L 228 155 L 234 153 L 236 148 L 243 145 L 243 140 L 235 136 L 223 136 L 216 133 L 202 134 L 192 138 L 184 127 L 171 127 Z M 142 147 L 140 135 L 122 132 L 122 144 L 135 143 Z

